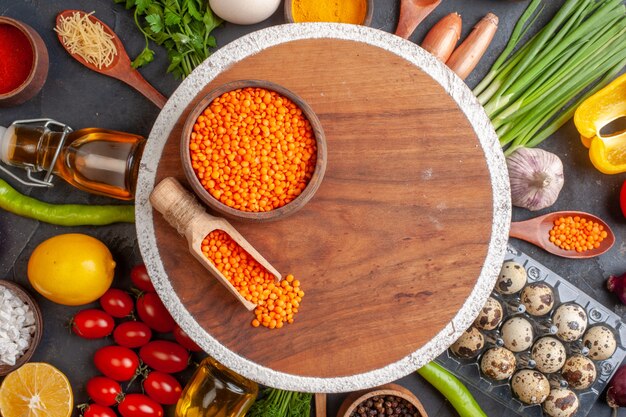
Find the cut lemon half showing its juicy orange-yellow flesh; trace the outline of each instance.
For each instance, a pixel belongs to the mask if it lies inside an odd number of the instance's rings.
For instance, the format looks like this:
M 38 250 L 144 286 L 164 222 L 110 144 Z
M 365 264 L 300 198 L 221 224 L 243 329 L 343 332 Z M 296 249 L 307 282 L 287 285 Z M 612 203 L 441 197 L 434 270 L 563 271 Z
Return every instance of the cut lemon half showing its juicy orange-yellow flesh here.
M 67 377 L 47 363 L 27 363 L 0 386 L 0 414 L 5 417 L 69 417 L 73 406 Z

